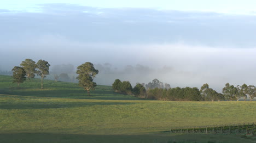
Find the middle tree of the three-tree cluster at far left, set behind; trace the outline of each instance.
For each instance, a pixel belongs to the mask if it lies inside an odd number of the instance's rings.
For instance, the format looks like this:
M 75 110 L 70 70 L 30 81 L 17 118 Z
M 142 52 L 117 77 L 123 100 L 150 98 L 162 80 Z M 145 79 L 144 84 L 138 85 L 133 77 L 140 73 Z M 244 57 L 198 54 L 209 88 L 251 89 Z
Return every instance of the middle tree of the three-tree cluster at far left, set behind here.
M 36 62 L 32 59 L 25 59 L 25 61 L 22 61 L 20 66 L 25 70 L 27 79 L 30 80 L 30 78 L 34 78 L 36 73 Z

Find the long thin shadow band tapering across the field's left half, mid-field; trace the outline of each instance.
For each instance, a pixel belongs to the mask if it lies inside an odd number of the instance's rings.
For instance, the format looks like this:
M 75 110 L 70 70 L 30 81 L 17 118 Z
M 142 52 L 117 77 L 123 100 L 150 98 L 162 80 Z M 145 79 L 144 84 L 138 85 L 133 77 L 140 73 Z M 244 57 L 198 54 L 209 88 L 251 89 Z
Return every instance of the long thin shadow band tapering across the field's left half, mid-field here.
M 49 103 L 49 102 L 2 102 L 0 109 L 50 109 L 50 108 L 74 108 L 74 107 L 88 107 L 93 105 L 124 105 L 134 104 L 125 102 L 62 102 L 62 103 Z

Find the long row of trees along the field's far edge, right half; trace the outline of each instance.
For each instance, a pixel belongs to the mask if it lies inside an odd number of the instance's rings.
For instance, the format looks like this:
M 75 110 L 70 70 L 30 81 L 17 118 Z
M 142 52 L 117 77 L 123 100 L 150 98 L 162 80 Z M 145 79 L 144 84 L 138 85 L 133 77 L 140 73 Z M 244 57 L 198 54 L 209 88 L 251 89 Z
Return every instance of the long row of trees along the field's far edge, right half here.
M 140 98 L 147 98 L 150 100 L 164 100 L 164 101 L 239 101 L 241 97 L 244 100 L 249 97 L 252 101 L 256 96 L 256 88 L 254 85 L 230 85 L 226 83 L 222 93 L 209 88 L 209 85 L 203 84 L 200 88 L 171 88 L 170 84 L 163 84 L 158 79 L 152 80 L 148 84 L 137 83 L 132 88 L 129 81 L 121 82 L 120 79 L 115 79 L 112 84 L 115 92 L 121 94 L 135 95 Z

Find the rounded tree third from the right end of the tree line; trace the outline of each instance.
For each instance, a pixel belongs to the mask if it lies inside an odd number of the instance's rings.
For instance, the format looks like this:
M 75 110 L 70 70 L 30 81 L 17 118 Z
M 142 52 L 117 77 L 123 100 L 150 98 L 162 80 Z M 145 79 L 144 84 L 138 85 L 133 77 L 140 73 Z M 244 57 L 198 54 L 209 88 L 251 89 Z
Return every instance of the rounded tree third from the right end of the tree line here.
M 237 89 L 234 85 L 230 85 L 229 83 L 225 84 L 225 88 L 222 89 L 223 95 L 225 96 L 226 100 L 234 100 L 235 96 L 237 95 Z

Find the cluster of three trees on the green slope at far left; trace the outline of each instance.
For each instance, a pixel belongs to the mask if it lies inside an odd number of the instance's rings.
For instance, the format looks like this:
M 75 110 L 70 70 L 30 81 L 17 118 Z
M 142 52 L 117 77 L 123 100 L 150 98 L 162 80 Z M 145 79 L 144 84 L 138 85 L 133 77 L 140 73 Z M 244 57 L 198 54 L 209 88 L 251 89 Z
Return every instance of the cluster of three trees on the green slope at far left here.
M 23 83 L 26 79 L 34 78 L 36 74 L 41 77 L 41 88 L 43 89 L 43 79 L 49 74 L 50 64 L 45 60 L 38 60 L 37 63 L 32 59 L 25 59 L 21 62 L 20 66 L 14 66 L 11 70 L 13 71 L 13 82 Z

